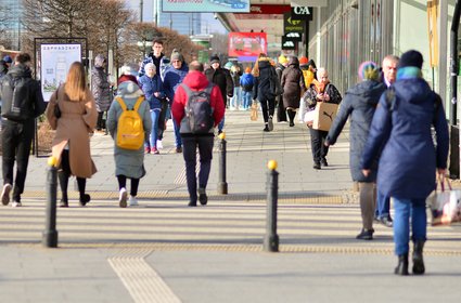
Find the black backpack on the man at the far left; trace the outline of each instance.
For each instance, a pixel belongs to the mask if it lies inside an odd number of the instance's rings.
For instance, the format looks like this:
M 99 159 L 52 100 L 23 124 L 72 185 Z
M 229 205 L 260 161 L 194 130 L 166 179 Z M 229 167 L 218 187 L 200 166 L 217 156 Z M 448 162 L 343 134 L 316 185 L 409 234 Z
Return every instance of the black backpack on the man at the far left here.
M 34 117 L 33 102 L 30 102 L 31 78 L 13 78 L 7 75 L 2 79 L 1 116 L 9 120 L 24 121 Z

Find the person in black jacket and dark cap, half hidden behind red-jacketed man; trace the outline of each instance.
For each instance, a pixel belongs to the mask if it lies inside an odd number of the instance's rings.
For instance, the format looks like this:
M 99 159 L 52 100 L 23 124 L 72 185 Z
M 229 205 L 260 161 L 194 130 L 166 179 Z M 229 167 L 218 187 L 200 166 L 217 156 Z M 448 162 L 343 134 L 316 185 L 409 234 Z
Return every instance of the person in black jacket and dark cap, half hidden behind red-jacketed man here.
M 233 81 L 230 71 L 221 68 L 220 61 L 218 55 L 213 55 L 209 58 L 209 68 L 205 70 L 205 76 L 212 83 L 218 85 L 221 90 L 222 102 L 225 106 L 228 107 L 228 98 L 230 100 L 233 96 Z M 222 132 L 225 128 L 226 116 L 218 124 L 218 134 Z

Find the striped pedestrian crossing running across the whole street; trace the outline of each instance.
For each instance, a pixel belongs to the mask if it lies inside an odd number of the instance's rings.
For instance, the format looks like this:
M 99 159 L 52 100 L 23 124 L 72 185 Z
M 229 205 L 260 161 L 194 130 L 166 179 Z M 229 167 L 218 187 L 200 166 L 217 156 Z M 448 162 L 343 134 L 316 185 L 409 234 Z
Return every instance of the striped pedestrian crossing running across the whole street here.
M 0 208 L 0 242 L 39 243 L 44 202 L 28 199 L 23 208 Z M 222 250 L 262 249 L 266 203 L 214 201 L 188 208 L 187 200 L 140 200 L 120 209 L 116 200 L 94 200 L 81 208 L 57 209 L 60 246 L 152 246 L 162 249 L 220 246 Z M 357 205 L 281 203 L 278 235 L 281 251 L 393 253 L 393 230 L 374 226 L 372 241 L 356 240 L 361 228 Z M 428 227 L 427 251 L 460 254 L 461 226 Z

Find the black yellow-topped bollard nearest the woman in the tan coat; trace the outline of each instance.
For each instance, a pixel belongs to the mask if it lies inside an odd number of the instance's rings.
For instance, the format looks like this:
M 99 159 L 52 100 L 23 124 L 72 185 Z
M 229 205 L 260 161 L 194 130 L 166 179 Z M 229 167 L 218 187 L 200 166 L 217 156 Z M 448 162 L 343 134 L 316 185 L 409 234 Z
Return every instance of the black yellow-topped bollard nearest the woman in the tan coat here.
M 56 189 L 57 169 L 54 167 L 54 164 L 50 164 L 47 172 L 47 213 L 41 243 L 44 247 L 51 248 L 57 247 Z

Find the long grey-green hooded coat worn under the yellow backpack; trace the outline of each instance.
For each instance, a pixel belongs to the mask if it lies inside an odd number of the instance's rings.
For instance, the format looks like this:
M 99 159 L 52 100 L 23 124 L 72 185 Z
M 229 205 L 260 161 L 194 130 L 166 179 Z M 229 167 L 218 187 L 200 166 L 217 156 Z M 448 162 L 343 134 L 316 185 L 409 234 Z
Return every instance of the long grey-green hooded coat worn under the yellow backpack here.
M 117 96 L 121 97 L 127 105 L 127 108 L 133 108 L 138 97 L 142 95 L 139 87 L 131 81 L 121 82 L 118 85 Z M 114 100 L 107 113 L 107 130 L 114 140 L 114 159 L 115 159 L 115 175 L 125 175 L 127 177 L 140 179 L 145 175 L 144 169 L 144 146 L 137 150 L 119 148 L 116 143 L 117 124 L 123 109 L 118 102 Z M 152 119 L 149 110 L 148 102 L 143 101 L 138 108 L 144 128 L 144 137 L 149 137 L 152 130 Z

